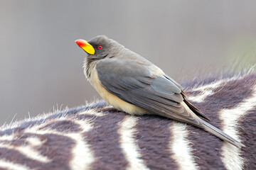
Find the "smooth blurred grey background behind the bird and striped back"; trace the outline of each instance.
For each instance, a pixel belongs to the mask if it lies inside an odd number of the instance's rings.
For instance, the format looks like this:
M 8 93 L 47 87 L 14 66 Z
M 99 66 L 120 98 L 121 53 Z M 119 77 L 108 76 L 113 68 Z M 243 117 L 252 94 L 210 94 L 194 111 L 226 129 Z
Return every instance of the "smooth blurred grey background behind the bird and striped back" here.
M 100 98 L 75 40 L 105 34 L 176 79 L 256 63 L 256 1 L 0 0 L 0 125 Z

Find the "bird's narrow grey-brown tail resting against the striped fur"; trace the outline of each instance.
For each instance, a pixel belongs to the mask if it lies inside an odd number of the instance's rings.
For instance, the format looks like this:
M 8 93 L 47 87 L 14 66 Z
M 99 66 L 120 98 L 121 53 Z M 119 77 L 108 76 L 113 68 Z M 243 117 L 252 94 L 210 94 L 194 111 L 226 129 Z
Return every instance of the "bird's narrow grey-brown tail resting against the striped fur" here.
M 204 120 L 201 120 L 201 123 L 203 123 L 203 129 L 207 132 L 210 132 L 211 134 L 215 135 L 216 137 L 219 137 L 221 140 L 227 141 L 232 145 L 235 145 L 236 147 L 245 147 L 241 142 L 238 142 L 238 140 L 235 140 L 233 137 L 230 137 L 230 135 L 227 135 L 225 132 L 219 130 L 218 128 L 215 128 L 213 125 L 210 125 L 210 123 L 207 123 Z

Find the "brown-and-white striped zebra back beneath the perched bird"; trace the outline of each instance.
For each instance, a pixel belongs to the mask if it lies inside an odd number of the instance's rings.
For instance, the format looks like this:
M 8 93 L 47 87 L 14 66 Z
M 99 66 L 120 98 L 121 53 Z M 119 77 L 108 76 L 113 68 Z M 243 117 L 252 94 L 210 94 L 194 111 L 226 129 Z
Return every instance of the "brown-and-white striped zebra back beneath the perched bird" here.
M 100 101 L 1 127 L 0 169 L 256 169 L 256 74 L 194 81 L 186 93 L 245 147 Z

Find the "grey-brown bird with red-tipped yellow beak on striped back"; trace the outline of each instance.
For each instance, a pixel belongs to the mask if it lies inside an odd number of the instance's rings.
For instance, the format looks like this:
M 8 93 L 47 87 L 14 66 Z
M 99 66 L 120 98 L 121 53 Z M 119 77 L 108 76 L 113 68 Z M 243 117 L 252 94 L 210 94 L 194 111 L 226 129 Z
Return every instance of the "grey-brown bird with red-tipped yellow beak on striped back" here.
M 86 79 L 118 111 L 130 115 L 160 115 L 188 123 L 236 147 L 244 147 L 206 122 L 210 119 L 186 99 L 182 86 L 146 58 L 106 35 L 97 35 L 88 42 L 82 39 L 75 42 L 87 53 L 83 65 Z

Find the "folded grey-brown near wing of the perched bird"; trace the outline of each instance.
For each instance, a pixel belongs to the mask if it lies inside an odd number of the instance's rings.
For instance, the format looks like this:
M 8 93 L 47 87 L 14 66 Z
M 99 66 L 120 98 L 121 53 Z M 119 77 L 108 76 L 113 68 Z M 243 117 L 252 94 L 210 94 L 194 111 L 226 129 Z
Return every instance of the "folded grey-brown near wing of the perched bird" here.
M 201 127 L 193 113 L 181 103 L 181 89 L 166 77 L 154 77 L 144 64 L 108 59 L 97 64 L 97 74 L 107 91 L 123 101 Z

